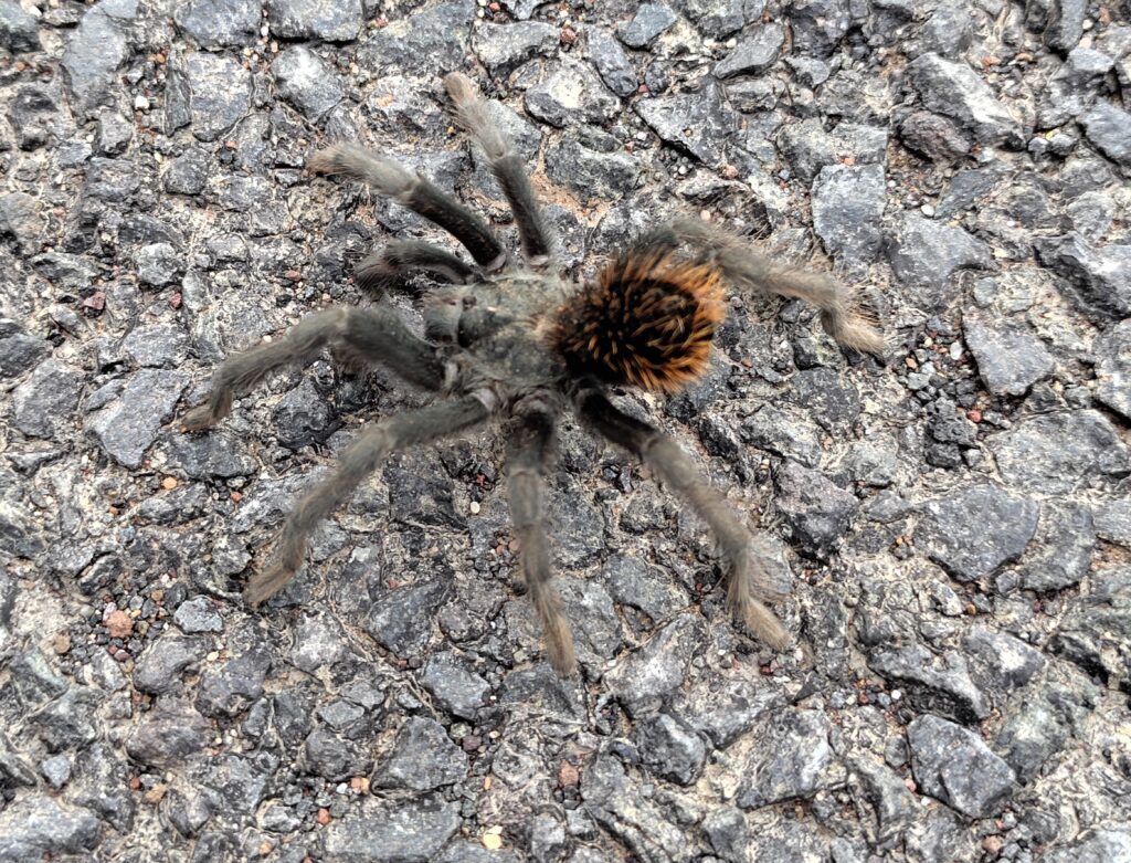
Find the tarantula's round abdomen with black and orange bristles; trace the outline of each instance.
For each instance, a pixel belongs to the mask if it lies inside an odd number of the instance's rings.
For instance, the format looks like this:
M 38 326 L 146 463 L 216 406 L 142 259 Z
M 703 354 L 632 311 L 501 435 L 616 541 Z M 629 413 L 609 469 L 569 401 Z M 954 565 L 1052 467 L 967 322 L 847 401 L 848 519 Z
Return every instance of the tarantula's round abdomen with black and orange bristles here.
M 675 392 L 706 371 L 723 300 L 709 264 L 629 254 L 561 309 L 553 338 L 577 373 Z

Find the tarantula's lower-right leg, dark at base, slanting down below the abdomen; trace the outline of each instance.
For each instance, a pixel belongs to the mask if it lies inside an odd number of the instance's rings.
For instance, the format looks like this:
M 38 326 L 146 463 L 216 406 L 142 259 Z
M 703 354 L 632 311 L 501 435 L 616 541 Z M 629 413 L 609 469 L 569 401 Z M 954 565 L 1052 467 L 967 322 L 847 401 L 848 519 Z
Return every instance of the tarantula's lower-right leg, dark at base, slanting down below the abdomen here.
M 593 387 L 581 388 L 576 398 L 578 413 L 594 429 L 644 461 L 677 495 L 687 500 L 718 537 L 719 550 L 731 564 L 727 598 L 736 616 L 763 642 L 784 650 L 791 636 L 759 597 L 776 597 L 750 532 L 710 487 L 694 463 L 658 429 L 618 409 Z

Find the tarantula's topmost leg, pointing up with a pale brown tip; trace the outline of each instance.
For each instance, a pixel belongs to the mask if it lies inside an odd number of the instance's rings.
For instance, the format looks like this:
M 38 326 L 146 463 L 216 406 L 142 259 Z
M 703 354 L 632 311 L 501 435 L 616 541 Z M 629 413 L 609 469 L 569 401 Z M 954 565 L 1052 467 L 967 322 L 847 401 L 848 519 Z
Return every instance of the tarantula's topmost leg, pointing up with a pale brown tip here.
M 456 107 L 460 126 L 474 138 L 486 154 L 503 195 L 515 214 L 515 224 L 523 242 L 523 254 L 533 266 L 549 264 L 553 257 L 550 235 L 542 221 L 538 202 L 526 175 L 526 166 L 498 123 L 487 114 L 487 103 L 483 101 L 472 80 L 461 72 L 444 76 L 448 95 Z

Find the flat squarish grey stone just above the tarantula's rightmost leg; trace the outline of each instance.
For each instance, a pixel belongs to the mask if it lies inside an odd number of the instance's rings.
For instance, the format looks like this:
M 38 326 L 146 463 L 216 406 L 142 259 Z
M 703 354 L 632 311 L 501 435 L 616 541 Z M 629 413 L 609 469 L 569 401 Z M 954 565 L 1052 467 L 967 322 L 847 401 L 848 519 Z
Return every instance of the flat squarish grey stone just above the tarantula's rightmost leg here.
M 881 165 L 829 165 L 813 181 L 813 230 L 824 249 L 853 271 L 880 251 L 887 202 Z

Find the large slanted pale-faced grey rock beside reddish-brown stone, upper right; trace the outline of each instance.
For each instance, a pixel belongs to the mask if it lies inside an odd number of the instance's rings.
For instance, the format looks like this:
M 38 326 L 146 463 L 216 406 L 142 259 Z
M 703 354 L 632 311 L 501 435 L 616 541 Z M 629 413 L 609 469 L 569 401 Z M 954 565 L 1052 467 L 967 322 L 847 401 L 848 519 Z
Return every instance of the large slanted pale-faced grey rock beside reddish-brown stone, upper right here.
M 907 71 L 929 111 L 955 120 L 981 144 L 1005 144 L 1015 149 L 1025 146 L 1017 120 L 965 62 L 926 53 L 915 58 Z

